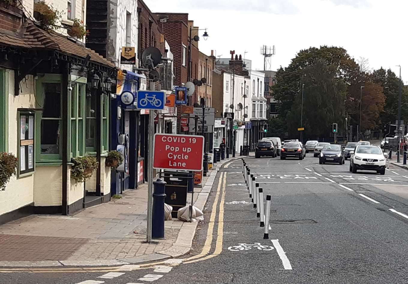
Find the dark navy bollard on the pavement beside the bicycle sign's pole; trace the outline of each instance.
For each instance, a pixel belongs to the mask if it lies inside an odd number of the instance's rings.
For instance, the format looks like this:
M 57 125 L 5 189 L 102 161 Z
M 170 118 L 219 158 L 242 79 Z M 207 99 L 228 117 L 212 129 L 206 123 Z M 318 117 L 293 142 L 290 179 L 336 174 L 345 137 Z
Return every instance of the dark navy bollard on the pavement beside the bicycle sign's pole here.
M 166 182 L 161 179 L 153 181 L 153 216 L 152 238 L 164 238 L 164 199 Z

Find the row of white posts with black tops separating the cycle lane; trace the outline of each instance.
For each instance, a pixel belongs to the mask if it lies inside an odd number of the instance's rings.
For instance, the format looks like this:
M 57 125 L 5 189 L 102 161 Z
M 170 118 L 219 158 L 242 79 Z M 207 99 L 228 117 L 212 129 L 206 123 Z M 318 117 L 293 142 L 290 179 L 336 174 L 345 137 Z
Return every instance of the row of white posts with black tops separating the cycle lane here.
M 246 165 L 244 158 L 242 159 L 242 174 L 246 183 L 246 188 L 249 192 L 249 198 L 253 203 L 253 208 L 256 209 L 256 216 L 259 218 L 259 227 L 264 227 L 264 239 L 269 238 L 269 216 L 271 210 L 271 195 L 266 195 L 266 208 L 264 210 L 264 190 L 259 187 L 259 183 L 255 182 L 255 177 L 251 174 L 251 170 Z

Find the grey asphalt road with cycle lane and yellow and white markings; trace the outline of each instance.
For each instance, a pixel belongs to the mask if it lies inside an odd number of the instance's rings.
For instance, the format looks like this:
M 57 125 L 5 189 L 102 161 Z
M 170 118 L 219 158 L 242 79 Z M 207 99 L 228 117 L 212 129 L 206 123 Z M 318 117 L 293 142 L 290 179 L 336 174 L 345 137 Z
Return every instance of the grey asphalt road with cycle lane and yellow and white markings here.
M 348 161 L 319 165 L 313 154 L 246 162 L 264 199 L 271 195 L 268 240 L 236 161 L 217 174 L 182 263 L 111 279 L 98 278 L 108 271 L 1 273 L 0 283 L 408 283 L 408 171 L 353 174 Z

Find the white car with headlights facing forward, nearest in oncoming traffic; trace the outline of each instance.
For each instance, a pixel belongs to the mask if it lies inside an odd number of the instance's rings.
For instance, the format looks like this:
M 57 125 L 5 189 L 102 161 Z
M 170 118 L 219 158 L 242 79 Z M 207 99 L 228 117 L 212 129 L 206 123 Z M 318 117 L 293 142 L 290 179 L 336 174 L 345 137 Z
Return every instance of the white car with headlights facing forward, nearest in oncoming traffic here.
M 350 172 L 375 170 L 385 175 L 386 158 L 379 146 L 358 145 L 350 154 Z

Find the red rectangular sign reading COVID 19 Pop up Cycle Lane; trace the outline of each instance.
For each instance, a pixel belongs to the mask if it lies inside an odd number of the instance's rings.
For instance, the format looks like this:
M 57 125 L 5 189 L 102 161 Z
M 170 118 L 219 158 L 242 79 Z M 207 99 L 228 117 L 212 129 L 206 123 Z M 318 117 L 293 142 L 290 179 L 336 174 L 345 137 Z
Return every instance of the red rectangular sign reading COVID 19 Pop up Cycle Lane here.
M 203 169 L 203 136 L 156 133 L 153 148 L 153 168 L 193 171 Z

